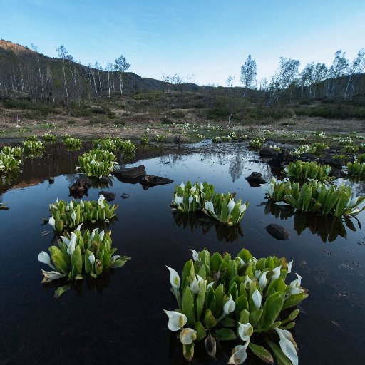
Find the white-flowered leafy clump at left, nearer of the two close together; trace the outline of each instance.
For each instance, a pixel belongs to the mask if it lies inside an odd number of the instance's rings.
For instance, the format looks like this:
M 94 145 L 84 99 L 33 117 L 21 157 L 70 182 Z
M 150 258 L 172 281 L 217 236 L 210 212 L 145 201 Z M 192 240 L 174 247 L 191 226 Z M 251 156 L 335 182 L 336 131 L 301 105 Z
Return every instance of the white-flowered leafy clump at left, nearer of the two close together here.
M 116 249 L 112 247 L 111 231 L 93 232 L 86 230 L 83 235 L 80 228 L 61 236 L 57 245 L 48 248 L 47 252 L 40 252 L 38 261 L 48 264 L 52 271 L 42 269 L 42 283 L 56 279 L 67 279 L 68 282 L 90 276 L 98 277 L 108 269 L 123 267 L 130 257 L 114 255 Z M 63 292 L 70 289 L 70 285 L 58 287 L 54 296 L 59 298 Z

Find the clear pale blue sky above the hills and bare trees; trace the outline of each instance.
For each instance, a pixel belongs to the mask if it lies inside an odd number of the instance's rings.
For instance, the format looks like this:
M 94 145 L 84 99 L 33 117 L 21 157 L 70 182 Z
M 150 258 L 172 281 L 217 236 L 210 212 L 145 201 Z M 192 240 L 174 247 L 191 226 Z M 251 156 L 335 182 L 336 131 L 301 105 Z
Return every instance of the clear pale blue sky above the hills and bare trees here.
M 364 0 L 0 0 L 0 38 L 81 63 L 122 55 L 140 76 L 225 86 L 250 54 L 257 78 L 279 57 L 331 64 L 365 47 Z

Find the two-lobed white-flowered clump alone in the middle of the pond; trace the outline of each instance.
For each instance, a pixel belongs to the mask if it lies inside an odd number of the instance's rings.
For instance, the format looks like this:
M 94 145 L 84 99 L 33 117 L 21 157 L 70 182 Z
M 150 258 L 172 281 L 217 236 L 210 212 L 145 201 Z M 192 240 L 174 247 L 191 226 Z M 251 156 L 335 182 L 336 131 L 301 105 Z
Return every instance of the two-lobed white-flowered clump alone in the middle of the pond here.
M 235 195 L 218 194 L 214 192 L 214 186 L 205 183 L 190 183 L 176 185 L 173 206 L 183 212 L 195 212 L 202 210 L 206 215 L 225 225 L 237 225 L 245 215 L 248 202 L 242 204 L 242 200 L 235 202 Z

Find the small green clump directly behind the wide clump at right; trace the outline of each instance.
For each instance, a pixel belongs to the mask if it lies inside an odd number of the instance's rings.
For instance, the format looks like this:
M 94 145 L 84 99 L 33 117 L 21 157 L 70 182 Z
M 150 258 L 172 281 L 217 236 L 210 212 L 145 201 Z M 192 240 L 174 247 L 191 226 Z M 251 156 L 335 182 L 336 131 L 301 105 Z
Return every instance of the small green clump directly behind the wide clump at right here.
M 331 172 L 330 165 L 320 165 L 315 162 L 303 162 L 300 160 L 289 163 L 288 168 L 284 169 L 285 175 L 296 180 L 329 180 Z

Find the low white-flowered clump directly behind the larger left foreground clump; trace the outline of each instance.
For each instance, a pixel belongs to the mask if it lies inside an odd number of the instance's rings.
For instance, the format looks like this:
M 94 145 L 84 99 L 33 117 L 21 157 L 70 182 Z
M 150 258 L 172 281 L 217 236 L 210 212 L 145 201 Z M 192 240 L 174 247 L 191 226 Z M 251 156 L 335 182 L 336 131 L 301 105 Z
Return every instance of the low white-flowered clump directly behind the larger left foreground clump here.
M 62 232 L 64 229 L 72 229 L 78 227 L 81 223 L 95 223 L 98 220 L 109 222 L 115 217 L 114 211 L 118 205 L 110 206 L 106 202 L 105 197 L 100 195 L 97 201 L 65 202 L 64 200 L 56 200 L 49 205 L 51 217 L 48 223 L 56 232 Z

